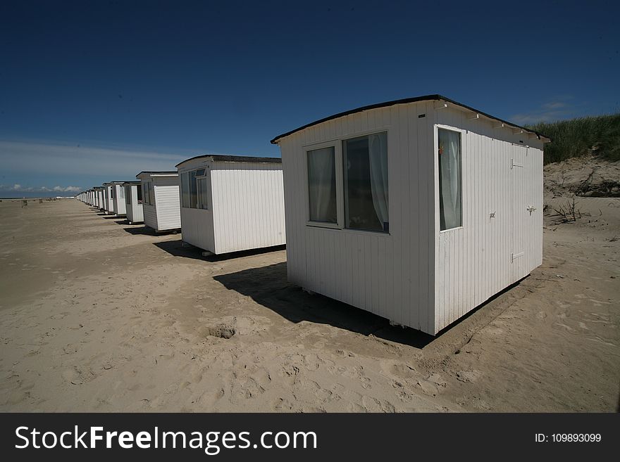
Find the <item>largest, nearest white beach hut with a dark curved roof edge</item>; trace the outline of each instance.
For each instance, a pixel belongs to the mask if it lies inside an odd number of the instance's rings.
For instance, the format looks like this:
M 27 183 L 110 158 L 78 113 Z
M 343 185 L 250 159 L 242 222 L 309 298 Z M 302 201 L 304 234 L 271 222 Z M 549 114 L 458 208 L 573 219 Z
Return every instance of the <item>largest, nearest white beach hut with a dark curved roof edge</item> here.
M 289 280 L 435 335 L 542 263 L 548 141 L 440 95 L 276 136 Z

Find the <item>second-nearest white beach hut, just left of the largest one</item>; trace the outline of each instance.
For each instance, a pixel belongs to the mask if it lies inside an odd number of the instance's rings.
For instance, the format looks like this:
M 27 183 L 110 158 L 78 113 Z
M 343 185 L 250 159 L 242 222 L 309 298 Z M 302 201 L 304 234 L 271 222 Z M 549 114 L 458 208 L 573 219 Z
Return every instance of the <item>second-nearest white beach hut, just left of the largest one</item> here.
M 282 245 L 282 160 L 200 155 L 177 166 L 185 242 L 214 254 Z

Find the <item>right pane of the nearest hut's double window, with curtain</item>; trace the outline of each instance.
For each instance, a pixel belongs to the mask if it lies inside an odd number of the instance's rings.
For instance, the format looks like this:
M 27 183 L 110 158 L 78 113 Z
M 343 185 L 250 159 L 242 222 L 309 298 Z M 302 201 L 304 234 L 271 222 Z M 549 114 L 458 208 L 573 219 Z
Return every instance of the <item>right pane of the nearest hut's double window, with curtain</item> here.
M 390 231 L 387 131 L 342 142 L 345 226 Z

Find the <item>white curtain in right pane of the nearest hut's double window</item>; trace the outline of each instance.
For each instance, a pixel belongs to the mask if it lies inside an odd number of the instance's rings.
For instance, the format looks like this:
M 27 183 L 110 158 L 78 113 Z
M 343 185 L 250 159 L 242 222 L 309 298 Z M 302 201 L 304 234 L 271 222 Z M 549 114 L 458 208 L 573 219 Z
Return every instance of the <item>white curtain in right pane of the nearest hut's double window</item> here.
M 390 203 L 387 188 L 387 133 L 373 134 L 368 136 L 368 160 L 371 172 L 371 193 L 373 206 L 377 217 L 387 231 L 390 222 L 388 204 Z

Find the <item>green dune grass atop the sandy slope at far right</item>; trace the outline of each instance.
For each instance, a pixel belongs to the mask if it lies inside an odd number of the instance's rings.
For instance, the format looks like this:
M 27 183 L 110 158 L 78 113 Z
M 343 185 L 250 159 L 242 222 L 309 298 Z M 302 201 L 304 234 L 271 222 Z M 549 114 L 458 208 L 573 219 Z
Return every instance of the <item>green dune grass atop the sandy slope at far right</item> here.
M 528 128 L 553 140 L 545 145 L 545 164 L 590 153 L 620 160 L 620 113 L 540 122 Z

